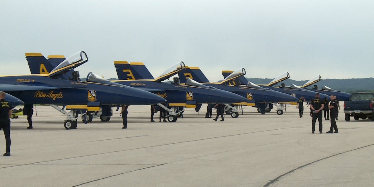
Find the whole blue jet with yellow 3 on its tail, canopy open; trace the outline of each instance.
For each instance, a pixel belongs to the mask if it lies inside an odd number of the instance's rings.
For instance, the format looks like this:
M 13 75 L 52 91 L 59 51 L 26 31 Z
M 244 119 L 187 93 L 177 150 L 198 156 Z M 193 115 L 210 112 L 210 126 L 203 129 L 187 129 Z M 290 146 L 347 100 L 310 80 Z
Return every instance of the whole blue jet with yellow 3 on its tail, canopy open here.
M 202 103 L 233 103 L 247 100 L 240 95 L 202 85 L 193 79 L 187 79 L 184 85 L 180 84 L 178 77 L 174 78 L 172 84 L 163 83 L 186 68 L 183 62 L 175 64 L 156 79 L 141 62 L 129 64 L 126 61 L 114 61 L 114 66 L 120 79 L 114 82 L 150 91 L 167 99 L 171 108 L 162 104 L 157 105 L 169 111 L 169 122 L 177 120 L 177 107 L 195 108 L 199 111 Z

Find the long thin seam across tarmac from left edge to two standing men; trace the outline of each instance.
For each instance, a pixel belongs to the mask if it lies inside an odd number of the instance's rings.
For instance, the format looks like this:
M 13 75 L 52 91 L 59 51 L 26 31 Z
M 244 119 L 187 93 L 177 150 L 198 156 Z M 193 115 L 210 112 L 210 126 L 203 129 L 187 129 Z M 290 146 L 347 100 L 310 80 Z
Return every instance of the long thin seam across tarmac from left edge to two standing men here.
M 303 125 L 303 126 L 309 126 L 309 125 Z M 295 126 L 295 127 L 300 127 L 300 126 Z M 45 161 L 40 161 L 40 162 L 33 162 L 33 163 L 26 163 L 26 164 L 8 166 L 8 167 L 0 168 L 0 169 L 11 168 L 11 167 L 16 167 L 16 166 L 27 166 L 27 165 L 44 163 L 44 162 L 53 162 L 53 161 L 58 161 L 58 160 L 76 159 L 76 158 L 95 156 L 95 155 L 101 155 L 101 154 L 118 153 L 118 152 L 122 152 L 122 151 L 132 151 L 132 150 L 138 150 L 138 149 L 144 149 L 144 148 L 160 147 L 160 146 L 165 146 L 165 145 L 183 144 L 183 143 L 187 143 L 187 142 L 194 142 L 194 141 L 201 141 L 201 140 L 212 140 L 212 139 L 216 139 L 216 138 L 225 138 L 225 137 L 233 137 L 233 136 L 240 136 L 240 135 L 246 135 L 246 134 L 254 134 L 254 133 L 258 133 L 258 132 L 278 131 L 278 130 L 282 130 L 282 129 L 290 129 L 290 128 L 295 128 L 295 127 L 285 127 L 285 128 L 269 129 L 269 130 L 264 130 L 264 131 L 255 131 L 255 132 L 245 132 L 245 133 L 241 133 L 241 134 L 232 134 L 232 135 L 225 135 L 225 136 L 219 136 L 219 137 L 202 138 L 202 139 L 198 139 L 198 140 L 188 140 L 188 141 L 173 142 L 173 143 L 168 143 L 168 144 L 151 145 L 151 146 L 147 146 L 147 147 L 138 147 L 138 148 L 132 148 L 132 149 L 126 149 L 126 150 L 111 151 L 111 152 L 106 152 L 106 153 L 96 153 L 96 154 L 74 156 L 74 157 L 68 157 L 68 158 L 62 158 L 62 159 L 45 160 Z

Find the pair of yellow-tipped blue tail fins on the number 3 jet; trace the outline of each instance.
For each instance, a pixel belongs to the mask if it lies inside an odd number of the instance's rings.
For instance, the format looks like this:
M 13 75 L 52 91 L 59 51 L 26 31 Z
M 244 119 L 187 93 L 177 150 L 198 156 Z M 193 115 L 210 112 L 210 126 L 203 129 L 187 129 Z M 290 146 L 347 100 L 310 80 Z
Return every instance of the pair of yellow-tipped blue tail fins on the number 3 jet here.
M 154 79 L 142 62 L 114 61 L 119 80 Z

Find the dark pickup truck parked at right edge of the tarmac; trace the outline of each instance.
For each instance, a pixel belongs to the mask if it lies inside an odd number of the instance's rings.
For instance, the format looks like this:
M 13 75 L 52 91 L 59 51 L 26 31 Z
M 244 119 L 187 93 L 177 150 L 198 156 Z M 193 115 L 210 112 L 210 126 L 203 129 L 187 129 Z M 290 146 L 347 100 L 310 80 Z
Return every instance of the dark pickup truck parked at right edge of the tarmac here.
M 352 93 L 349 101 L 344 102 L 345 119 L 349 122 L 350 117 L 353 116 L 355 120 L 371 119 L 374 121 L 374 93 L 359 92 Z

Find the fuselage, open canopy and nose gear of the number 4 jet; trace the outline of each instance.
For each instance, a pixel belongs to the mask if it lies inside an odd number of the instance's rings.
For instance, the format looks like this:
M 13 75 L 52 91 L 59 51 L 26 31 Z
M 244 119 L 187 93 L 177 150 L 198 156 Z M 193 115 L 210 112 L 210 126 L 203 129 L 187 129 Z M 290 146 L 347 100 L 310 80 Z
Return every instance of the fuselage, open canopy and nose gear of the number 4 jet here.
M 67 72 L 88 61 L 80 51 L 62 61 L 48 74 L 0 76 L 0 90 L 9 93 L 24 104 L 49 104 L 67 114 L 66 129 L 77 126 L 78 114 L 100 111 L 102 107 L 117 105 L 148 105 L 165 102 L 153 93 L 120 85 L 89 73 L 86 81 L 80 81 L 79 72 Z M 64 105 L 69 113 L 56 105 Z

